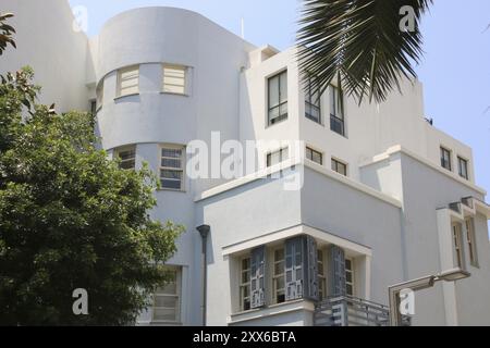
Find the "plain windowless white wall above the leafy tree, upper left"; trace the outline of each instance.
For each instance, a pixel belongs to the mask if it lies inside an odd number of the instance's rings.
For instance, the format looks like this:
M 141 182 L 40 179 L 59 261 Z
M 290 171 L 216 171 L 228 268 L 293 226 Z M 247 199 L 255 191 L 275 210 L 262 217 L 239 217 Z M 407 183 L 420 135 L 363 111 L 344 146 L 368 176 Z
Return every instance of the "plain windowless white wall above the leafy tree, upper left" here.
M 65 0 L 2 0 L 2 12 L 16 34 L 17 49 L 9 46 L 0 58 L 0 73 L 29 65 L 42 87 L 39 101 L 57 104 L 59 112 L 89 110 L 86 75 L 88 39 L 73 30 L 73 15 Z

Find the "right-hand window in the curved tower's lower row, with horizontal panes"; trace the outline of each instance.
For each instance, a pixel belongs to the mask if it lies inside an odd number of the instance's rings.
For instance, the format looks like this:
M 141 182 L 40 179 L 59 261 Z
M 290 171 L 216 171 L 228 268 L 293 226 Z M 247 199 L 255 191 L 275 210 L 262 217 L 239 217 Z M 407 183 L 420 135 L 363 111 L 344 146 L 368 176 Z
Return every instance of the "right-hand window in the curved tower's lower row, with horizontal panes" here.
M 184 149 L 163 147 L 161 149 L 160 183 L 163 189 L 184 189 Z

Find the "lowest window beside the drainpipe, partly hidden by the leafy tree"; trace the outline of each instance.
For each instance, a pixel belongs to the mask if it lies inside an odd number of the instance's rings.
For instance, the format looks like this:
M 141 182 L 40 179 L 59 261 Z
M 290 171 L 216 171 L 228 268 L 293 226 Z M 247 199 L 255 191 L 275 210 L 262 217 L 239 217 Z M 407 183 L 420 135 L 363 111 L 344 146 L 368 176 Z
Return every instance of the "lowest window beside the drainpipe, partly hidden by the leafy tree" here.
M 152 310 L 155 322 L 177 323 L 181 321 L 181 278 L 180 270 L 170 271 L 169 282 L 155 291 Z

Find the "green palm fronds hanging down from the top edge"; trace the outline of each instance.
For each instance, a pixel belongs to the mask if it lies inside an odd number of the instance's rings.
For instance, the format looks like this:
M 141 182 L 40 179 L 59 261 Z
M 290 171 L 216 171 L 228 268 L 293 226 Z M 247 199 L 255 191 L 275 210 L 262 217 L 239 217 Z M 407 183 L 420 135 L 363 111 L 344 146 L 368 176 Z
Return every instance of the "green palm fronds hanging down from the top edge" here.
M 404 77 L 416 77 L 418 23 L 432 0 L 303 0 L 297 36 L 303 77 L 322 94 L 333 80 L 360 103 L 385 100 Z M 413 27 L 401 26 L 412 21 Z M 340 87 L 339 86 L 339 87 Z

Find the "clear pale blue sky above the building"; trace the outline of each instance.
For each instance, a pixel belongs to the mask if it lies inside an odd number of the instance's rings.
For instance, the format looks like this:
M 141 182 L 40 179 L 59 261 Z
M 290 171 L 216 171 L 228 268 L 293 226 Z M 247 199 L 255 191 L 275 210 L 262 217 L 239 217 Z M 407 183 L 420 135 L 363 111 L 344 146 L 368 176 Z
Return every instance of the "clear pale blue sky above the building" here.
M 255 44 L 293 45 L 298 0 L 71 0 L 88 9 L 88 34 L 133 8 L 170 5 L 201 13 Z M 422 22 L 426 51 L 417 67 L 426 115 L 474 149 L 477 184 L 490 191 L 490 1 L 436 1 Z M 485 33 L 483 33 L 485 32 Z

